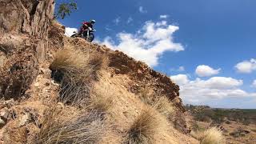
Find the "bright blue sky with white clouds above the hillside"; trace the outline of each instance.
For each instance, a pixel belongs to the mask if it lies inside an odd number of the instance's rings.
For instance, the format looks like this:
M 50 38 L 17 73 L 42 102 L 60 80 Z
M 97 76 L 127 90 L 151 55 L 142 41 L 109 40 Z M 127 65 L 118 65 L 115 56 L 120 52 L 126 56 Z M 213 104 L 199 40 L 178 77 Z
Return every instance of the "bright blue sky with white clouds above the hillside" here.
M 256 1 L 77 2 L 59 22 L 70 29 L 96 19 L 97 42 L 170 76 L 183 102 L 256 108 Z

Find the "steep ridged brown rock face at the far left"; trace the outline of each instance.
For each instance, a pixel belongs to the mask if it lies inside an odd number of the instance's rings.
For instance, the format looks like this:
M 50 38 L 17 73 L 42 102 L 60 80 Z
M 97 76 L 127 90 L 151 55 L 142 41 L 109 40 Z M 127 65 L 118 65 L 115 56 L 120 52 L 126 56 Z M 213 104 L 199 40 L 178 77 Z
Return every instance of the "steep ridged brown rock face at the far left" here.
M 25 94 L 46 59 L 54 0 L 0 0 L 0 96 Z

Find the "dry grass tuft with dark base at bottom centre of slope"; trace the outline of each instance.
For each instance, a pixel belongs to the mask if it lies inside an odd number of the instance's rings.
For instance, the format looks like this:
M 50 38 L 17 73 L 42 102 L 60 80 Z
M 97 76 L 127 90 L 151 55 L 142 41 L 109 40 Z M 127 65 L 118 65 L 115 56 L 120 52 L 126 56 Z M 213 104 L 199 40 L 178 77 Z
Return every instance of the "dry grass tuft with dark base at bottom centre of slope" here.
M 165 126 L 165 123 L 162 123 L 161 119 L 158 118 L 157 112 L 146 107 L 130 126 L 125 143 L 152 143 L 154 142 L 154 135 L 161 133 Z

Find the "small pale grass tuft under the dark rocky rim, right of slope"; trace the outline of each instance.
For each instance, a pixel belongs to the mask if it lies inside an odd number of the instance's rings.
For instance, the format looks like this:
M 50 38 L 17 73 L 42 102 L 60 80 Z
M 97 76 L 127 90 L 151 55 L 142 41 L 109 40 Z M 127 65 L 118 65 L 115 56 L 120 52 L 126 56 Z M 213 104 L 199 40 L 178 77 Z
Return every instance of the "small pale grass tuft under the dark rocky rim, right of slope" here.
M 174 117 L 175 109 L 173 104 L 166 97 L 158 98 L 158 101 L 154 103 L 154 109 L 158 110 L 158 112 L 166 118 L 170 119 Z

